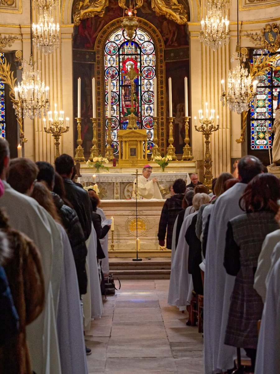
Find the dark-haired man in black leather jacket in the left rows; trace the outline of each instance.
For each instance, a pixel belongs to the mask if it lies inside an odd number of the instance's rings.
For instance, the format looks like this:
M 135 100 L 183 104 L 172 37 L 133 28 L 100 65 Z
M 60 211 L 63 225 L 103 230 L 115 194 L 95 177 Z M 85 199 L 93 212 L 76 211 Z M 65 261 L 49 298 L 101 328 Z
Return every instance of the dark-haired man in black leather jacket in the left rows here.
M 63 153 L 55 160 L 55 168 L 57 173 L 63 178 L 66 198 L 74 206 L 84 232 L 85 240 L 87 240 L 91 232 L 92 209 L 87 191 L 78 187 L 70 179 L 74 169 L 74 160 L 68 154 Z

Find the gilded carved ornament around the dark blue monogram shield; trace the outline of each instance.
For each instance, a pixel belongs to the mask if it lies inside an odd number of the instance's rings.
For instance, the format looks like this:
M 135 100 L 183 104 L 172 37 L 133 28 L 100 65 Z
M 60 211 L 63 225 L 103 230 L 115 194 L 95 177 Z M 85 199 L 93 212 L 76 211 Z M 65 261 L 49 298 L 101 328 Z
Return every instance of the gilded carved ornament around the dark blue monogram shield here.
M 264 28 L 261 29 L 261 34 L 246 33 L 250 42 L 254 43 L 258 47 L 269 50 L 269 52 L 277 52 L 280 48 L 280 29 L 279 26 L 274 24 L 266 24 Z

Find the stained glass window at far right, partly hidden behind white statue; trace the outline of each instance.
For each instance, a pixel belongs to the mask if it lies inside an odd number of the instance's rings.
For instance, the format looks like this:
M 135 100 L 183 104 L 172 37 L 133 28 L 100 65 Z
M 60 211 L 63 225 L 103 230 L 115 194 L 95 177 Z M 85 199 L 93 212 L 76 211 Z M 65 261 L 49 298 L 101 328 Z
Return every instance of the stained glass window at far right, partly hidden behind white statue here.
M 279 53 L 280 50 L 277 52 Z M 253 57 L 267 55 L 266 49 L 253 50 Z M 251 61 L 252 63 L 252 61 Z M 280 54 L 274 67 L 266 71 L 264 75 L 258 76 L 256 105 L 251 104 L 251 149 L 267 149 L 267 131 L 270 131 L 275 111 L 280 107 Z M 278 109 L 277 108 L 277 109 Z M 272 145 L 271 135 L 268 137 L 269 145 Z

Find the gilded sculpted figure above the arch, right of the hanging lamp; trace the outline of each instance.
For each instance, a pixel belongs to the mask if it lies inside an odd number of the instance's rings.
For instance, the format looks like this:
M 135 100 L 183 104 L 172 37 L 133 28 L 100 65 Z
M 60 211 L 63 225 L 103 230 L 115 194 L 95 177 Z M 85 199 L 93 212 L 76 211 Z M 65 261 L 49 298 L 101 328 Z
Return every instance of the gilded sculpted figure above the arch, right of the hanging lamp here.
M 152 9 L 156 15 L 164 15 L 179 25 L 188 21 L 187 11 L 177 0 L 152 0 Z

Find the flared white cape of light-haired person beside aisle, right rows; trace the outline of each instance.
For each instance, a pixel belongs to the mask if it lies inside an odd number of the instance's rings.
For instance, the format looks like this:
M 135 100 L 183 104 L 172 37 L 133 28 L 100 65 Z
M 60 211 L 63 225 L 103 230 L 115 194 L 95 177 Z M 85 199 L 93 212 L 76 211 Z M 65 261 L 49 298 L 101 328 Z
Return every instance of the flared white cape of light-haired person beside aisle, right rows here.
M 189 305 L 192 300 L 193 281 L 192 275 L 188 273 L 189 245 L 186 242 L 185 234 L 192 223 L 193 217 L 198 213 L 187 215 L 184 218 L 174 259 L 171 265 L 168 304 L 175 305 L 180 309 Z

